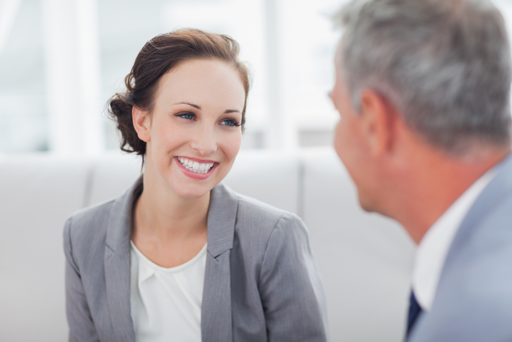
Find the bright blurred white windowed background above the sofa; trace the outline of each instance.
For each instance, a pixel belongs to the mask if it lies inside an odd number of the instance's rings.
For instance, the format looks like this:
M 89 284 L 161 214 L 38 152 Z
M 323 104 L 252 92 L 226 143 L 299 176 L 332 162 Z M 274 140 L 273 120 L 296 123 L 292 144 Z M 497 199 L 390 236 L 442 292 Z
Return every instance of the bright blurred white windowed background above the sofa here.
M 345 0 L 0 0 L 0 153 L 118 149 L 105 103 L 144 43 L 228 34 L 251 66 L 243 148 L 330 145 L 327 93 Z

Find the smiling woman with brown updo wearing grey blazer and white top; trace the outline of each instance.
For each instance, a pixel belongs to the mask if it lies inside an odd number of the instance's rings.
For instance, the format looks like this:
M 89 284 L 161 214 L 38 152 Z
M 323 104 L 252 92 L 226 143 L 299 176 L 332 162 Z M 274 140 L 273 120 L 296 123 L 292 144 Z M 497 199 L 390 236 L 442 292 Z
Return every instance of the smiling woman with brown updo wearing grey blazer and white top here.
M 245 123 L 238 50 L 195 29 L 159 35 L 111 99 L 144 172 L 66 223 L 70 340 L 327 339 L 302 220 L 220 184 Z

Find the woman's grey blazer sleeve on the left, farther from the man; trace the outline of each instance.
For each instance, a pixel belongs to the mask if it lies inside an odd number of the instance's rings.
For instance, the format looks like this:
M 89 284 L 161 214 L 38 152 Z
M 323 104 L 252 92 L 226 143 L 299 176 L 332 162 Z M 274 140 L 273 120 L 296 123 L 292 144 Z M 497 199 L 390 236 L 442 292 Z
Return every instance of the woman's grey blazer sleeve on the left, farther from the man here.
M 83 291 L 80 270 L 73 257 L 70 217 L 64 227 L 64 252 L 66 254 L 66 315 L 70 342 L 97 342 L 99 337 Z

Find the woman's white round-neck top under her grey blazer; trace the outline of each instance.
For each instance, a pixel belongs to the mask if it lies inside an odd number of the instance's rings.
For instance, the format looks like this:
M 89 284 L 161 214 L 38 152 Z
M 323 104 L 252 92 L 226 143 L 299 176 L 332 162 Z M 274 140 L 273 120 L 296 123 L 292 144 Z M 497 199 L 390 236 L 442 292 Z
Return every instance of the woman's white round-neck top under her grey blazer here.
M 206 244 L 194 258 L 171 268 L 156 265 L 131 245 L 135 340 L 200 342 Z

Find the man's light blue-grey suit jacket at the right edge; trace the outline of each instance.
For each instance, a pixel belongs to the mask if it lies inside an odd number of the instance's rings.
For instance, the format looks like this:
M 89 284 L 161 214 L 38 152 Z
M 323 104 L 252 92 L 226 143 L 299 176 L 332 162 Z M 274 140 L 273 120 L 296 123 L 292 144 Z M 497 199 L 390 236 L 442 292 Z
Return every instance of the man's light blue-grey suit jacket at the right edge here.
M 512 156 L 464 218 L 410 342 L 512 341 Z

